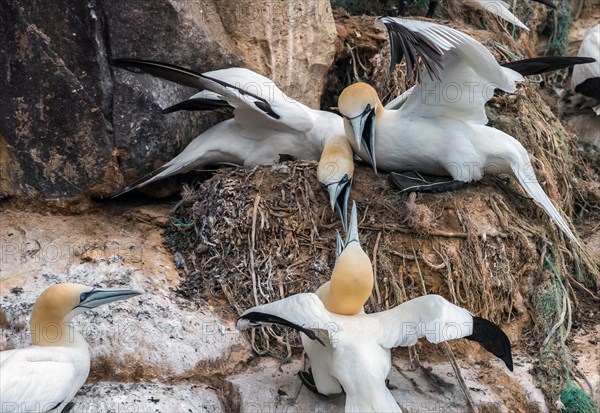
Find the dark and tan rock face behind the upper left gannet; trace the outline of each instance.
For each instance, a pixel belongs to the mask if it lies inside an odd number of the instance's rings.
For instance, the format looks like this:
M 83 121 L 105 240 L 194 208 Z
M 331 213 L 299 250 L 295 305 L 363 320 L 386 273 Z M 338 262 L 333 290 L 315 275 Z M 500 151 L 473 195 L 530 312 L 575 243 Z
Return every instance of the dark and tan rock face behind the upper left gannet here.
M 0 33 L 0 199 L 65 198 L 119 190 L 222 119 L 162 115 L 194 91 L 115 69 L 110 58 L 198 71 L 246 66 L 276 74 L 284 90 L 316 107 L 335 25 L 321 0 L 7 0 Z

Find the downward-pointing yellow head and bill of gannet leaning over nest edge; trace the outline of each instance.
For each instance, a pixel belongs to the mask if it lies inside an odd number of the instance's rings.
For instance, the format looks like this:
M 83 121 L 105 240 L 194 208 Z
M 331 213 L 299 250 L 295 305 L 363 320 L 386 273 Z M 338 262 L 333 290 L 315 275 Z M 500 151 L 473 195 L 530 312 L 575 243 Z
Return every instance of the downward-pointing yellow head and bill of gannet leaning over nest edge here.
M 348 199 L 354 176 L 353 156 L 345 137 L 335 139 L 325 144 L 317 168 L 317 178 L 327 188 L 331 210 L 337 208 L 344 230 L 348 221 Z

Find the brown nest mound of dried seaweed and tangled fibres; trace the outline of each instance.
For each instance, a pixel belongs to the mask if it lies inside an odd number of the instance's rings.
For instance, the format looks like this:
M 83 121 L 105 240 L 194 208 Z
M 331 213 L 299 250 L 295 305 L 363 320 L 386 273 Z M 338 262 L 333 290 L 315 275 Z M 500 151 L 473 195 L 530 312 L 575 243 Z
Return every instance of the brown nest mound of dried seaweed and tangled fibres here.
M 495 98 L 491 123 L 524 144 L 544 190 L 567 214 L 598 211 L 597 183 L 535 88 Z M 351 198 L 376 276 L 366 311 L 436 293 L 508 325 L 517 348 L 544 360 L 536 372 L 554 406 L 572 377 L 566 339 L 577 297 L 598 299 L 598 262 L 585 247 L 566 240 L 508 176 L 407 197 L 385 174 L 357 165 Z M 187 188 L 167 237 L 183 269 L 181 293 L 226 300 L 239 315 L 327 281 L 340 227 L 316 163 L 293 161 L 222 169 Z M 286 358 L 301 348 L 286 329 L 248 335 L 258 354 Z

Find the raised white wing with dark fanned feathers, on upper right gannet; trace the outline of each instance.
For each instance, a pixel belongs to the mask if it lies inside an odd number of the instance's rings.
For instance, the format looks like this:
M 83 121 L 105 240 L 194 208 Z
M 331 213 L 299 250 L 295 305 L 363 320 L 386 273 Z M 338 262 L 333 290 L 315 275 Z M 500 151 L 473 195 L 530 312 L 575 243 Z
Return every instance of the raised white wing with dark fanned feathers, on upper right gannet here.
M 494 90 L 514 92 L 515 82 L 523 80 L 519 73 L 500 66 L 479 42 L 450 27 L 393 17 L 377 19 L 376 26 L 387 29 L 390 36 L 390 70 L 406 59 L 408 76 L 413 67 L 421 73 L 420 84 L 401 99 L 400 110 L 406 116 L 485 125 L 484 105 Z

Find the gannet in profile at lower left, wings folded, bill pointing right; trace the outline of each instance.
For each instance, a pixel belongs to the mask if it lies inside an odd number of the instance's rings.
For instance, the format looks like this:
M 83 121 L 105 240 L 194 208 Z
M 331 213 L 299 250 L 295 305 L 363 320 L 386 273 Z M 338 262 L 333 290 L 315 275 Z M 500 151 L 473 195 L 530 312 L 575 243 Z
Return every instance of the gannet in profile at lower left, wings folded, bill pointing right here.
M 71 320 L 90 308 L 139 294 L 70 283 L 46 289 L 31 313 L 31 346 L 0 352 L 0 411 L 69 411 L 90 371 L 87 343 Z

